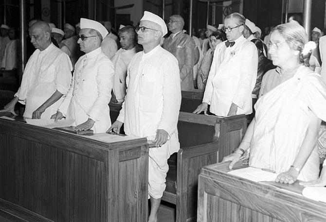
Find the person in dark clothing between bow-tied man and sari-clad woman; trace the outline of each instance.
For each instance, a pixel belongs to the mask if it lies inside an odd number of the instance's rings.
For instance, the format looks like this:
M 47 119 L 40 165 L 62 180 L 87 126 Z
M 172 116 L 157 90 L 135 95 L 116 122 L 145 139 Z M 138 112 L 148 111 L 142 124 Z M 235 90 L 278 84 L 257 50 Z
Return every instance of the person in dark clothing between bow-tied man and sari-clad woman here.
M 263 76 L 265 73 L 275 68 L 272 61 L 265 57 L 263 51 L 263 42 L 260 39 L 254 38 L 251 40 L 255 46 L 257 47 L 258 51 L 258 68 L 257 68 L 257 78 L 256 78 L 256 84 L 254 85 L 254 90 L 252 92 L 253 95 L 255 95 L 255 98 L 258 98 L 259 90 L 261 86 L 261 81 L 263 79 Z M 254 97 L 253 97 L 254 98 Z

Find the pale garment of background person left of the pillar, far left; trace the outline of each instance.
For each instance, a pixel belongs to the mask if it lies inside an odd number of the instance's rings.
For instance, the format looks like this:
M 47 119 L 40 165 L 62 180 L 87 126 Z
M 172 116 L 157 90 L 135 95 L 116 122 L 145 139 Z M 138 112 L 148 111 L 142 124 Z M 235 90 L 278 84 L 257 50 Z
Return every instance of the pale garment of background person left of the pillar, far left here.
M 8 42 L 1 61 L 1 68 L 5 70 L 18 68 L 18 43 L 18 39 Z

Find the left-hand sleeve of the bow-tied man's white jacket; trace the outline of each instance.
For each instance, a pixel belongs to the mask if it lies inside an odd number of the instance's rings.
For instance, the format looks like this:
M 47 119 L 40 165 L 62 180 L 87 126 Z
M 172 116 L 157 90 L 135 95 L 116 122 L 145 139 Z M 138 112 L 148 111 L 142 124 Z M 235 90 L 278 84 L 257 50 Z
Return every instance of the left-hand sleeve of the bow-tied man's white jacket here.
M 213 95 L 212 80 L 215 76 L 217 61 L 218 61 L 218 57 L 220 56 L 219 53 L 220 53 L 220 48 L 217 46 L 217 48 L 214 51 L 212 65 L 211 65 L 211 69 L 209 70 L 209 73 L 208 73 L 204 96 L 202 99 L 202 102 L 206 102 L 208 104 L 211 104 L 211 100 L 212 100 L 212 95 Z

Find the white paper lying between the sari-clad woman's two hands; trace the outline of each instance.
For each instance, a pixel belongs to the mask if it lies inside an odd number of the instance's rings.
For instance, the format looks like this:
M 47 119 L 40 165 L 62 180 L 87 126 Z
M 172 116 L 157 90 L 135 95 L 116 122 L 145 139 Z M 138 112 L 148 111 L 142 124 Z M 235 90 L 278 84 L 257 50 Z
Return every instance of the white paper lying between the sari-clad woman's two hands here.
M 242 168 L 239 170 L 229 171 L 228 173 L 254 182 L 275 181 L 277 177 L 276 173 L 263 171 L 254 167 Z

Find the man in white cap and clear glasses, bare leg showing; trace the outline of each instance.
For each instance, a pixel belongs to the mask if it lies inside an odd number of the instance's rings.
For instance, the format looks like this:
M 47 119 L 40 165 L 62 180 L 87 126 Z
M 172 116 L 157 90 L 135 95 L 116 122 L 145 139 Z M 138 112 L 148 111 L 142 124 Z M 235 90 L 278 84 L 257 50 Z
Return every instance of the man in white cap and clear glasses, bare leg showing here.
M 118 119 L 109 131 L 120 132 L 125 124 L 127 135 L 147 137 L 156 145 L 149 150 L 148 194 L 151 212 L 148 222 L 157 221 L 167 159 L 180 148 L 177 122 L 181 104 L 180 73 L 177 59 L 160 46 L 167 33 L 164 20 L 144 12 L 138 29 L 138 52 L 127 70 L 127 95 Z

